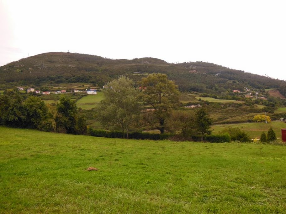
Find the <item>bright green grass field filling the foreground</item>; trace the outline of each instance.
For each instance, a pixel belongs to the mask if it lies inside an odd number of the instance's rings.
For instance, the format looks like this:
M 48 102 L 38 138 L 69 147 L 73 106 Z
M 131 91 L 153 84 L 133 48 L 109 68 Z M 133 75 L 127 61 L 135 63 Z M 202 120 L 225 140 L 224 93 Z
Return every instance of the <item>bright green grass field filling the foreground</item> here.
M 0 133 L 0 213 L 286 213 L 286 146 Z

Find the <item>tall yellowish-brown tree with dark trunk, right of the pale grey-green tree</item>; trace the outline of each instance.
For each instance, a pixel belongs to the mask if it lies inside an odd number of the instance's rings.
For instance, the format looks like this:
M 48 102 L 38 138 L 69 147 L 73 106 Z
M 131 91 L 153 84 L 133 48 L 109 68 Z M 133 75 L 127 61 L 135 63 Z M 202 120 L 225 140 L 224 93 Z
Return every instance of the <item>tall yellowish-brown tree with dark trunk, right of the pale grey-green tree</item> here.
M 154 73 L 142 78 L 141 87 L 145 104 L 151 105 L 153 109 L 148 112 L 149 122 L 152 121 L 156 129 L 163 134 L 165 121 L 178 104 L 178 86 L 169 80 L 166 74 Z

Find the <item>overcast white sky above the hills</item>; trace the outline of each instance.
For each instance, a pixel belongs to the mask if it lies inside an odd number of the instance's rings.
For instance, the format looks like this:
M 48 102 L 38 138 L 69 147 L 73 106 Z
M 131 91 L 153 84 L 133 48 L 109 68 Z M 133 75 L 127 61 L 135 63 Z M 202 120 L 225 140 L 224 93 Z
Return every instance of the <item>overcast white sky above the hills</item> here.
M 285 80 L 285 21 L 282 0 L 0 0 L 0 66 L 69 50 L 204 61 Z

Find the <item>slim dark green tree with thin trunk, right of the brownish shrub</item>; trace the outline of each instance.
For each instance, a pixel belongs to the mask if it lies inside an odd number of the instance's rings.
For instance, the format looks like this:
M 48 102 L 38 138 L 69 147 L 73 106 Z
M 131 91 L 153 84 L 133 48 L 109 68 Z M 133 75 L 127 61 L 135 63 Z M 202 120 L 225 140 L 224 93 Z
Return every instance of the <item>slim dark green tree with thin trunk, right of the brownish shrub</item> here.
M 198 132 L 201 134 L 201 141 L 203 141 L 203 136 L 205 134 L 210 134 L 211 119 L 209 115 L 203 108 L 200 108 L 196 112 L 196 128 Z

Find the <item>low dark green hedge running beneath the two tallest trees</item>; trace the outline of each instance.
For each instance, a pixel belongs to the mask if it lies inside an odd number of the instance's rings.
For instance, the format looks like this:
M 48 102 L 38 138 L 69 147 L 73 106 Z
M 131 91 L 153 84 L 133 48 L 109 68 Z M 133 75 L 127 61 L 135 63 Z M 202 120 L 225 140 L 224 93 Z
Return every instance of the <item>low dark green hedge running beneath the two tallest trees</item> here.
M 108 137 L 108 138 L 123 138 L 123 133 L 121 131 L 108 131 L 108 130 L 96 130 L 89 128 L 88 133 L 94 137 Z M 147 133 L 147 132 L 130 132 L 129 139 L 136 139 L 136 140 L 164 140 L 172 136 L 171 134 L 154 134 L 154 133 Z M 126 138 L 126 133 L 124 135 Z

